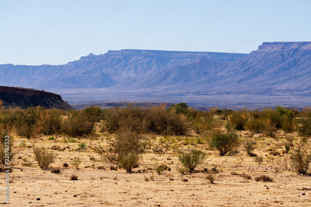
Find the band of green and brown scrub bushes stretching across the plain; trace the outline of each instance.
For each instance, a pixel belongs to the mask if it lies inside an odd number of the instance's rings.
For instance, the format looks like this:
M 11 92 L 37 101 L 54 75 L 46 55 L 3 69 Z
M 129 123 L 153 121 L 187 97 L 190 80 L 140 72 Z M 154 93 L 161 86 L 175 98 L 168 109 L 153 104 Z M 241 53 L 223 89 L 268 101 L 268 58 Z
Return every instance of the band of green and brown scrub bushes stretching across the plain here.
M 239 136 L 239 131 L 244 130 L 248 131 L 246 139 Z M 298 132 L 302 137 L 301 143 L 293 142 L 293 138 L 288 135 L 293 132 Z M 282 139 L 285 153 L 292 150 L 291 169 L 305 174 L 310 160 L 307 143 L 311 136 L 311 112 L 309 108 L 299 112 L 281 106 L 262 111 L 211 108 L 203 112 L 188 107 L 186 103 L 169 108 L 130 104 L 126 108 L 103 110 L 92 106 L 78 111 L 42 107 L 24 110 L 0 108 L 0 133 L 2 137 L 10 133 L 29 140 L 36 139 L 40 134 L 67 136 L 67 140 L 73 140 L 72 137 L 94 138 L 104 134 L 107 136 L 107 145 L 97 146 L 91 160 L 119 163 L 127 172 L 132 172 L 139 164 L 143 153 L 152 151 L 165 154 L 169 150 L 179 155 L 183 165 L 183 168 L 179 168 L 180 172 L 192 172 L 205 160 L 207 154 L 193 148 L 180 151 L 181 142 L 191 146 L 206 143 L 210 150 L 217 151 L 221 156 L 233 155 L 243 145 L 247 155 L 256 157 L 253 153 L 256 140 L 252 137 L 261 133 L 277 142 Z M 157 140 L 156 136 L 160 136 L 160 139 Z M 4 144 L 2 137 L 0 147 Z M 13 139 L 10 146 L 13 146 L 12 143 Z M 33 150 L 42 169 L 55 159 L 55 155 L 45 149 L 33 145 Z M 14 149 L 10 153 L 14 157 Z M 2 160 L 1 155 L 0 162 L 3 164 Z

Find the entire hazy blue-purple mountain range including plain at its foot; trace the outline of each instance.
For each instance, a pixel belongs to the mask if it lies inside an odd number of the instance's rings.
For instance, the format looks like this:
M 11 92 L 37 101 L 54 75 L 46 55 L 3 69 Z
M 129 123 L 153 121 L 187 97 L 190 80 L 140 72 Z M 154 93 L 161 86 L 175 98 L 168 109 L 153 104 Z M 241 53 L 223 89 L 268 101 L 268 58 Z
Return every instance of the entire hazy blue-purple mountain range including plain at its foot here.
M 0 83 L 50 90 L 70 103 L 310 105 L 311 42 L 264 42 L 249 54 L 156 50 L 90 54 L 66 65 L 0 65 Z

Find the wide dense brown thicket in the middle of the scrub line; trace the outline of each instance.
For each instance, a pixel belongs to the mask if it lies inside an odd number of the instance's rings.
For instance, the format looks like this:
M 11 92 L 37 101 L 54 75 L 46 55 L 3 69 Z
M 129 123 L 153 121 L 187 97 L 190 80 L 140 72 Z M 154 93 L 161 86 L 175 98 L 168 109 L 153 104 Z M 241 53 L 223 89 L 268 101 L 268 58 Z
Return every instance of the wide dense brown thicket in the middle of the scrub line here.
M 190 124 L 187 115 L 177 114 L 174 108 L 165 110 L 165 106 L 142 108 L 128 105 L 127 108 L 115 108 L 107 111 L 101 124 L 102 131 L 107 129 L 114 133 L 127 128 L 136 133 L 149 133 L 163 135 L 185 135 Z

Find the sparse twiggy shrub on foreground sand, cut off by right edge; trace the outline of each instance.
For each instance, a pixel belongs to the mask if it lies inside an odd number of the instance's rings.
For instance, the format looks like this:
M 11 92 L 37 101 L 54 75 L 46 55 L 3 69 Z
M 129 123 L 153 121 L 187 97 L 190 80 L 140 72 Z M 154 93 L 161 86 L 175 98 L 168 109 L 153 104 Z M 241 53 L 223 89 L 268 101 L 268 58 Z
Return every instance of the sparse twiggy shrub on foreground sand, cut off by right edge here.
M 290 167 L 298 174 L 305 175 L 310 169 L 311 154 L 309 153 L 309 145 L 303 149 L 301 145 L 293 150 L 293 155 L 290 156 Z

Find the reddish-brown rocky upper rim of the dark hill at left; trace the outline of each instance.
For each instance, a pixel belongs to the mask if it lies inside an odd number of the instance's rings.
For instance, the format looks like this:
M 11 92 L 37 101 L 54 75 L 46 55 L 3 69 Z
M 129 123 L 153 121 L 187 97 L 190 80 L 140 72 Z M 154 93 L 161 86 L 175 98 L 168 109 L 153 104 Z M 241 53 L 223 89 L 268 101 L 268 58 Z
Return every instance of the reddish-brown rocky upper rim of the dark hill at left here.
M 0 86 L 0 93 L 16 93 L 16 94 L 23 94 L 25 96 L 46 96 L 46 97 L 53 97 L 59 100 L 62 99 L 62 97 L 58 94 L 30 89 L 30 88 L 16 88 L 16 87 L 9 87 L 9 86 Z

